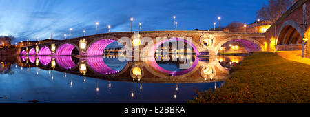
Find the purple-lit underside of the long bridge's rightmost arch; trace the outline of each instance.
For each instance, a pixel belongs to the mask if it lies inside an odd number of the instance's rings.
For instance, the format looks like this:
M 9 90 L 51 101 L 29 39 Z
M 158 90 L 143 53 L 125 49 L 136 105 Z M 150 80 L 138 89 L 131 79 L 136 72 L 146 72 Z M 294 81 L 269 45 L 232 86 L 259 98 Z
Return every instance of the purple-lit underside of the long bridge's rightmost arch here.
M 237 42 L 240 43 L 248 52 L 260 51 L 260 47 L 255 43 L 245 40 L 245 39 L 234 39 L 230 42 Z

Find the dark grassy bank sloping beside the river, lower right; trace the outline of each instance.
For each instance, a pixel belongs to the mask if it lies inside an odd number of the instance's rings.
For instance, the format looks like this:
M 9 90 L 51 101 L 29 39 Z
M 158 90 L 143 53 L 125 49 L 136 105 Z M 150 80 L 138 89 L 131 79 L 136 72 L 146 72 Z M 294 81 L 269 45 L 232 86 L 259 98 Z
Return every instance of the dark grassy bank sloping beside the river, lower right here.
M 310 103 L 310 65 L 271 52 L 254 52 L 215 91 L 187 103 Z

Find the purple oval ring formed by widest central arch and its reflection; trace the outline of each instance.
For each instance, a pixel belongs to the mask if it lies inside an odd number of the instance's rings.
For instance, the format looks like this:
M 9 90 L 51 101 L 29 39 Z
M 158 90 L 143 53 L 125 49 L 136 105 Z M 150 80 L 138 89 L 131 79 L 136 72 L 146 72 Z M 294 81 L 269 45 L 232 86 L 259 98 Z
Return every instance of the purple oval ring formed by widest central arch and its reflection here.
M 178 39 L 178 38 L 169 39 L 169 40 L 164 40 L 164 41 L 161 41 L 160 43 L 156 43 L 156 45 L 154 45 L 153 49 L 150 50 L 149 55 L 154 56 L 157 47 L 159 47 L 159 46 L 162 45 L 163 43 L 170 42 L 170 41 L 184 41 L 185 43 L 187 43 L 187 44 L 189 44 L 189 45 L 191 45 L 191 46 L 193 47 L 196 56 L 198 56 L 198 53 L 199 53 L 199 52 L 198 52 L 198 50 L 197 50 L 197 47 L 196 47 L 193 43 L 190 43 L 190 42 L 188 42 L 188 41 L 185 40 L 185 39 Z M 156 69 L 156 70 L 158 70 L 158 71 L 160 71 L 160 72 L 166 73 L 166 74 L 172 74 L 172 76 L 183 75 L 183 74 L 187 74 L 188 72 L 191 72 L 191 71 L 196 67 L 196 65 L 198 64 L 198 62 L 199 62 L 199 60 L 198 60 L 198 58 L 196 58 L 195 61 L 194 61 L 194 63 L 193 63 L 193 65 L 192 65 L 191 67 L 189 67 L 189 69 L 176 72 L 176 71 L 169 71 L 169 70 L 163 69 L 163 67 L 159 66 L 158 63 L 156 63 L 154 57 L 151 57 L 151 58 L 149 59 L 149 63 L 150 63 L 150 65 L 151 65 L 152 67 L 154 67 L 154 69 Z

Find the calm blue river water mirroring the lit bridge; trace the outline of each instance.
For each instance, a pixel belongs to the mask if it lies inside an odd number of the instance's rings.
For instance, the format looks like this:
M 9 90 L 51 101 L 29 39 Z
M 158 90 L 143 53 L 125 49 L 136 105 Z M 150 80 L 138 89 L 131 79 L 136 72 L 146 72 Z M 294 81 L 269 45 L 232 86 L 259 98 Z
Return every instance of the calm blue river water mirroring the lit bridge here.
M 228 61 L 236 64 L 242 61 L 242 57 L 237 60 L 233 56 L 219 56 L 215 60 L 199 61 L 186 74 L 172 76 L 158 72 L 147 62 L 121 62 L 103 57 L 33 57 L 0 58 L 0 97 L 7 98 L 0 98 L 0 103 L 28 103 L 34 99 L 39 103 L 185 103 L 194 98 L 196 90 L 220 87 L 227 78 L 224 67 Z M 82 64 L 85 76 L 81 74 Z M 135 80 L 139 74 L 133 72 L 134 67 L 141 69 L 139 80 Z M 214 71 L 206 72 L 205 68 Z

